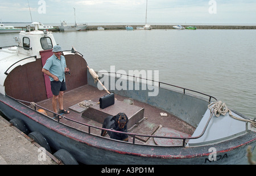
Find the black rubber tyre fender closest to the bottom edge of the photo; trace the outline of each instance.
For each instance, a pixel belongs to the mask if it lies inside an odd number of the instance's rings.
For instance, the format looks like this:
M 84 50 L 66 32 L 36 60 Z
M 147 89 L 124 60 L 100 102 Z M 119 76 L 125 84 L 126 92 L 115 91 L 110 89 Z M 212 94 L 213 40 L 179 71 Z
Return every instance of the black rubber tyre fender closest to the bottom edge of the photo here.
M 72 154 L 65 149 L 59 149 L 59 151 L 55 152 L 53 156 L 61 160 L 65 165 L 78 165 L 78 162 Z

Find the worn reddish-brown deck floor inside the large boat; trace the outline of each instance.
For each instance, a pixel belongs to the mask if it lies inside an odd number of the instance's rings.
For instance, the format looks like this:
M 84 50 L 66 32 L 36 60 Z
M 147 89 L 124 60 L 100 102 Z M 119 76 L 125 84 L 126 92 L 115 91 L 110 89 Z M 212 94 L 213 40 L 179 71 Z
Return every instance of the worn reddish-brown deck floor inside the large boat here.
M 98 104 L 95 104 L 95 102 L 98 102 L 100 97 L 104 96 L 106 94 L 105 91 L 100 91 L 96 87 L 93 87 L 92 85 L 83 85 L 79 88 L 72 89 L 71 91 L 67 91 L 64 93 L 64 108 L 69 109 L 71 113 L 64 114 L 65 117 L 73 119 L 75 121 L 79 121 L 80 123 L 86 123 L 88 125 L 93 125 L 97 127 L 102 127 L 102 122 L 97 121 L 95 119 L 90 119 L 88 116 L 90 116 L 89 111 L 93 109 L 94 113 L 96 112 L 97 115 L 102 116 L 105 113 L 116 115 L 117 113 L 133 113 L 138 114 L 138 111 L 143 109 L 142 118 L 138 120 L 138 122 L 134 122 L 134 125 L 130 125 L 128 128 L 128 132 L 131 132 L 133 134 L 143 134 L 143 135 L 156 135 L 156 132 L 159 132 L 157 135 L 171 135 L 171 134 L 179 134 L 183 136 L 191 136 L 193 132 L 195 131 L 195 127 L 189 125 L 188 123 L 182 121 L 181 119 L 175 117 L 175 115 L 172 115 L 166 111 L 160 110 L 158 108 L 155 108 L 154 106 L 145 104 L 143 102 L 139 102 L 136 100 L 133 100 L 133 105 L 130 105 L 127 100 L 129 98 L 115 95 L 115 104 L 112 106 L 109 106 L 105 109 L 100 109 Z M 81 108 L 78 106 L 80 102 L 93 102 L 93 106 L 90 108 Z M 52 110 L 52 98 L 49 98 L 44 101 L 37 102 L 38 105 Z M 139 109 L 139 110 L 138 110 Z M 120 110 L 120 111 L 119 111 Z M 87 113 L 88 112 L 88 113 Z M 87 113 L 87 115 L 86 115 Z M 160 113 L 166 113 L 167 116 L 161 116 Z M 50 117 L 53 117 L 52 113 L 47 112 L 47 114 Z M 106 115 L 107 117 L 108 115 Z M 128 115 L 127 115 L 128 116 Z M 130 116 L 133 116 L 131 114 Z M 104 118 L 104 117 L 102 117 Z M 88 132 L 88 127 L 80 125 L 79 123 L 69 121 L 68 119 L 62 118 L 60 119 L 60 122 L 65 123 L 68 126 L 75 127 L 79 130 Z M 129 119 L 129 122 L 130 119 Z M 131 122 L 132 123 L 132 122 Z M 167 132 L 165 132 L 167 130 Z M 170 130 L 172 131 L 170 134 Z M 101 130 L 96 128 L 91 128 L 90 132 L 92 134 L 100 135 Z M 109 135 L 105 136 L 106 138 L 109 138 Z M 131 138 L 131 137 L 130 137 Z M 159 139 L 159 138 L 155 138 Z M 129 139 L 129 141 L 133 141 L 132 138 Z M 137 136 L 135 143 L 141 143 L 141 144 L 157 144 L 162 143 L 165 141 L 162 140 L 152 140 L 148 137 L 142 137 Z M 173 142 L 173 141 L 172 141 Z

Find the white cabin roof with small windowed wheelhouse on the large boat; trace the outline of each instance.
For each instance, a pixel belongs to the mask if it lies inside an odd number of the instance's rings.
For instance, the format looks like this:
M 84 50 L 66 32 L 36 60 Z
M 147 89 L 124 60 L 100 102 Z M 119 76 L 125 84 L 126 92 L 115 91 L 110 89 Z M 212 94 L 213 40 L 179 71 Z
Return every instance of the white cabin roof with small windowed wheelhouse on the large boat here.
M 38 24 L 34 23 L 34 25 Z M 8 74 L 17 66 L 34 62 L 36 58 L 41 58 L 40 51 L 52 49 L 56 45 L 52 32 L 38 31 L 37 29 L 38 26 L 35 26 L 35 31 L 21 31 L 19 33 L 18 46 L 7 48 L 2 46 L 2 49 L 0 49 L 0 93 L 3 95 L 5 95 L 3 85 L 7 77 L 6 71 Z M 20 61 L 22 59 L 24 60 Z

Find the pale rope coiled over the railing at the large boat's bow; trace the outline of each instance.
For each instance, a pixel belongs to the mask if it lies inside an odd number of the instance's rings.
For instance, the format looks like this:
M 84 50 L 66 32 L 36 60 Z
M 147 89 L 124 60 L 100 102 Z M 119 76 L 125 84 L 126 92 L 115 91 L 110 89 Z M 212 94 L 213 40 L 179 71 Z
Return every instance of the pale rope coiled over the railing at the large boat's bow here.
M 241 119 L 232 115 L 232 111 L 228 109 L 225 102 L 224 103 L 222 103 L 221 101 L 212 102 L 211 104 L 208 105 L 208 109 L 210 110 L 210 113 L 212 113 L 213 111 L 216 117 L 220 117 L 220 115 L 226 115 L 226 113 L 229 113 L 230 117 L 237 119 L 239 121 L 250 122 L 252 126 L 256 127 L 255 121 L 249 120 L 249 119 Z

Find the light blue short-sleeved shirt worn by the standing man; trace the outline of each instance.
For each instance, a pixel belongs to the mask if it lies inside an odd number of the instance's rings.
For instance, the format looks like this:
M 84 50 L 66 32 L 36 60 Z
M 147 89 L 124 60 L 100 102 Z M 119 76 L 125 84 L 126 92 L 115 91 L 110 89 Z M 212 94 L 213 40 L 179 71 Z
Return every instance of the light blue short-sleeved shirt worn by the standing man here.
M 48 70 L 51 74 L 57 76 L 62 82 L 63 80 L 65 81 L 65 67 L 67 67 L 65 57 L 61 55 L 60 59 L 58 59 L 53 54 L 47 59 L 43 68 Z M 51 76 L 49 76 L 49 79 L 50 81 L 54 80 Z

